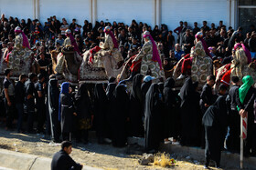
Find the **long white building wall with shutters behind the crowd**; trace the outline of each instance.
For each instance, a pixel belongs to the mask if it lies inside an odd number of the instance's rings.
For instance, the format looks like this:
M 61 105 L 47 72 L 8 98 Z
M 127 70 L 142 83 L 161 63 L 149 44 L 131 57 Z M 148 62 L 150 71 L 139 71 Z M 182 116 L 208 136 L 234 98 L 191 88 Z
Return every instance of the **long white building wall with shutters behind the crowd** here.
M 193 27 L 197 21 L 208 25 L 219 20 L 224 25 L 246 29 L 256 25 L 256 0 L 8 0 L 0 1 L 0 13 L 19 19 L 37 18 L 43 22 L 50 15 L 65 17 L 68 23 L 76 18 L 80 25 L 86 19 L 95 21 L 137 22 L 148 25 L 165 24 L 174 30 L 179 21 L 187 21 Z

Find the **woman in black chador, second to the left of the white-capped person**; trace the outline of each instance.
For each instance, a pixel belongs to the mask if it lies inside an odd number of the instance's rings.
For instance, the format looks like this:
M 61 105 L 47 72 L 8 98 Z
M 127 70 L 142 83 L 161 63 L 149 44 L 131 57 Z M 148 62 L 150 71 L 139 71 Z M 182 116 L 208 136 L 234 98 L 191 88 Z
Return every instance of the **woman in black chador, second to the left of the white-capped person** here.
M 126 123 L 129 113 L 129 95 L 126 85 L 117 85 L 112 105 L 112 145 L 123 147 L 126 144 Z

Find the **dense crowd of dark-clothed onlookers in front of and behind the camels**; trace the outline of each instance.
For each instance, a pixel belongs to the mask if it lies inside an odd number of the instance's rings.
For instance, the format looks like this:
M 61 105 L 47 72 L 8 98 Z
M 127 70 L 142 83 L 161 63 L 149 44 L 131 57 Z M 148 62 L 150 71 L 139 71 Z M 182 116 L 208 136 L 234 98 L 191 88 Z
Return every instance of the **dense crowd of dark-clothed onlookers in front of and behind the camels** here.
M 12 48 L 16 26 L 20 26 L 28 36 L 40 66 L 50 65 L 49 52 L 59 50 L 65 44 L 67 29 L 75 35 L 80 53 L 83 53 L 91 49 L 91 45 L 104 41 L 103 30 L 106 26 L 110 26 L 126 61 L 144 47 L 145 37 L 148 37 L 146 41 L 155 40 L 162 59 L 155 62 L 159 63 L 159 69 L 162 62 L 165 71 L 171 70 L 180 59 L 190 54 L 198 32 L 208 46 L 206 54 L 213 60 L 229 64 L 236 43 L 249 49 L 252 60 L 256 58 L 254 25 L 244 38 L 241 27 L 236 31 L 232 27 L 227 29 L 222 21 L 218 27 L 214 24 L 208 27 L 207 21 L 204 21 L 201 28 L 197 27 L 197 22 L 194 28 L 187 22 L 180 22 L 174 30 L 177 35 L 175 40 L 166 25 L 160 29 L 155 25 L 152 30 L 151 26 L 137 24 L 135 20 L 130 26 L 101 21 L 96 22 L 94 27 L 85 21 L 81 27 L 76 24 L 76 19 L 68 25 L 65 18 L 60 23 L 56 16 L 52 16 L 45 25 L 41 25 L 38 20 L 28 19 L 26 23 L 24 19 L 21 22 L 12 17 L 7 20 L 2 15 L 1 49 Z M 153 55 L 154 49 L 151 52 Z M 139 58 L 133 61 L 136 59 Z M 90 129 L 96 130 L 99 144 L 112 143 L 118 147 L 127 144 L 127 136 L 144 137 L 148 153 L 155 153 L 161 142 L 169 142 L 172 137 L 172 142 L 179 141 L 181 145 L 206 148 L 206 167 L 210 159 L 216 161 L 219 167 L 221 150 L 239 151 L 240 117 L 248 116 L 244 154 L 256 155 L 255 89 L 250 75 L 244 76 L 242 82 L 240 77 L 232 76 L 230 89 L 227 85 L 219 85 L 216 94 L 212 90 L 216 82 L 214 75 L 208 75 L 201 93 L 198 92 L 198 83 L 193 83 L 189 77 L 180 91 L 174 91 L 176 81 L 173 78 L 159 81 L 142 71 L 139 74 L 133 72 L 126 81 L 110 77 L 108 84 L 96 84 L 93 93 L 85 83 L 79 85 L 78 91 L 68 82 L 59 86 L 56 75 L 51 75 L 50 69 L 46 71 L 44 68 L 38 75 L 20 75 L 16 85 L 10 80 L 11 76 L 12 70 L 5 69 L 5 105 L 2 107 L 6 114 L 1 113 L 6 117 L 6 129 L 13 129 L 14 119 L 17 118 L 18 132 L 46 133 L 54 142 L 75 139 L 88 143 Z M 133 81 L 131 92 L 127 92 L 127 81 Z M 24 129 L 25 116 L 27 127 Z M 36 118 L 37 130 L 34 128 Z

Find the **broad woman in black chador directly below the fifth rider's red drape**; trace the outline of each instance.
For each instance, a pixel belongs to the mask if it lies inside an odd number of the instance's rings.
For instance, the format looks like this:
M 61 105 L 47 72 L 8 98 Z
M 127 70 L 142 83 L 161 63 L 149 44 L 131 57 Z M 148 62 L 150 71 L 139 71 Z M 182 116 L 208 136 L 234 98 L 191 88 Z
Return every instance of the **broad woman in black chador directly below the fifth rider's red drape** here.
M 200 145 L 200 95 L 198 83 L 187 78 L 180 89 L 181 98 L 181 145 Z

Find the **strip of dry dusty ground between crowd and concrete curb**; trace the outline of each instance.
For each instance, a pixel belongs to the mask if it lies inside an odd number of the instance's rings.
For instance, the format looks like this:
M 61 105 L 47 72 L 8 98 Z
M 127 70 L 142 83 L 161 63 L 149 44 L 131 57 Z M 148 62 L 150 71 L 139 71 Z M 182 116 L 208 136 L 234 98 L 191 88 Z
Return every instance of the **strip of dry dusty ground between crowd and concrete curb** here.
M 98 145 L 92 140 L 88 145 L 74 144 L 73 147 L 71 156 L 77 162 L 103 169 L 203 169 L 203 162 L 182 156 L 175 156 L 177 161 L 175 167 L 139 165 L 140 149 L 135 146 L 115 148 L 112 145 Z M 0 148 L 51 158 L 59 151 L 60 146 L 43 139 L 42 135 L 17 134 L 0 128 Z

